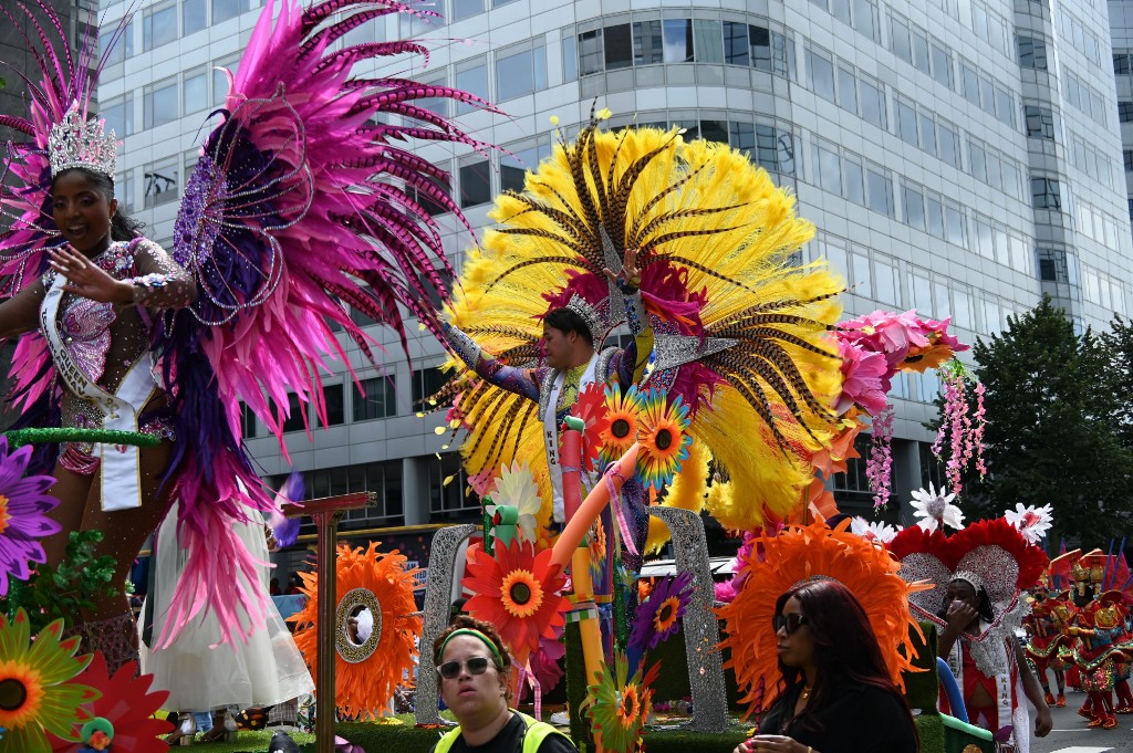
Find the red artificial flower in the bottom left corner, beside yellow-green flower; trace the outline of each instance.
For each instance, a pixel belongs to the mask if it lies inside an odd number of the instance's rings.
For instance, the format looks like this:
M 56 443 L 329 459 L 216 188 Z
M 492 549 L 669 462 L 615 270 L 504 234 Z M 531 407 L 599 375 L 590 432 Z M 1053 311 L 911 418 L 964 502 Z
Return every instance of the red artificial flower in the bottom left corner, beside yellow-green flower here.
M 130 753 L 164 753 L 169 745 L 160 735 L 172 729 L 164 719 L 155 719 L 154 713 L 169 698 L 169 691 L 150 693 L 153 675 L 135 677 L 135 662 L 118 668 L 111 677 L 107 670 L 107 659 L 102 652 L 95 651 L 90 666 L 76 678 L 76 682 L 94 687 L 102 698 L 84 704 L 84 708 L 95 718 L 110 722 L 109 742 L 113 751 L 130 751 Z M 77 721 L 73 733 L 78 736 L 83 725 Z M 74 751 L 75 743 L 51 736 L 51 750 L 57 753 Z

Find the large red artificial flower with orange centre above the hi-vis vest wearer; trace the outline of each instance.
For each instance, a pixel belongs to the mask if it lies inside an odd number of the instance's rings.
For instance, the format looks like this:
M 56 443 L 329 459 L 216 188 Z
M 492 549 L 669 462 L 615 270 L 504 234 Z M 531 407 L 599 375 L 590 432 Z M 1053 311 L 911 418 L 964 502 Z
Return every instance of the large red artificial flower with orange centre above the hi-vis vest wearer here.
M 560 591 L 566 577 L 551 564 L 552 550 L 536 553 L 527 541 L 496 546 L 495 556 L 469 558 L 462 584 L 476 596 L 465 609 L 495 625 L 516 662 L 523 665 L 538 650 L 539 636 L 552 636 L 565 624 L 570 601 Z

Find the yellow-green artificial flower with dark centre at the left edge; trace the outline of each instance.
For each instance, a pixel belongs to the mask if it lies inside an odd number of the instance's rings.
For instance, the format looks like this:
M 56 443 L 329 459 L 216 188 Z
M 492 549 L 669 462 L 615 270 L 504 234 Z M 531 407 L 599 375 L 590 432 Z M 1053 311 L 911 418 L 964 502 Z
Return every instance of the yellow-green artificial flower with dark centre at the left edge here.
M 51 750 L 46 733 L 78 741 L 76 721 L 90 713 L 84 703 L 99 698 L 90 685 L 71 682 L 91 658 L 75 658 L 79 638 L 60 641 L 63 621 L 57 619 L 32 640 L 23 609 L 8 621 L 0 614 L 0 727 L 6 750 L 42 753 Z

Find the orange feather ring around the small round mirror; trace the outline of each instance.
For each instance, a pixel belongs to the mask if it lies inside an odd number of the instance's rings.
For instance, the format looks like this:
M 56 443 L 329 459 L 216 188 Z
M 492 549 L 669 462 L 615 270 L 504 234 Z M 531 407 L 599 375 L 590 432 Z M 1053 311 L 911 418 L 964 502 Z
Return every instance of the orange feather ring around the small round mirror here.
M 402 675 L 412 669 L 417 656 L 414 636 L 421 632 L 421 618 L 414 601 L 414 575 L 419 570 L 407 568 L 404 555 L 397 550 L 380 553 L 378 544 L 370 541 L 365 550 L 340 546 L 335 573 L 337 600 L 355 589 L 366 589 L 377 600 L 381 611 L 373 615 L 373 630 L 378 631 L 374 651 L 355 662 L 338 654 L 334 658 L 335 704 L 349 716 L 364 718 L 373 718 L 375 710 L 384 709 Z M 318 677 L 317 576 L 299 575 L 304 581 L 300 590 L 309 598 L 303 610 L 288 617 L 288 622 L 296 623 L 295 643 L 310 668 L 310 676 Z

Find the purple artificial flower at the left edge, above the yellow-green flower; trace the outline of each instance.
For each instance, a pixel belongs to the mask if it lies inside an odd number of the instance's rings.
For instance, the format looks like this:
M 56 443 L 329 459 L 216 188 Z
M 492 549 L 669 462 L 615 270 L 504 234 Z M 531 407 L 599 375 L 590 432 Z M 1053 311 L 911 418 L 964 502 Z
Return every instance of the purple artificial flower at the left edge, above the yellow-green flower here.
M 0 596 L 8 593 L 8 575 L 26 581 L 28 563 L 43 563 L 40 539 L 62 530 L 46 516 L 59 500 L 44 494 L 56 479 L 51 476 L 28 476 L 32 446 L 8 452 L 7 437 L 0 436 Z

